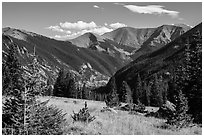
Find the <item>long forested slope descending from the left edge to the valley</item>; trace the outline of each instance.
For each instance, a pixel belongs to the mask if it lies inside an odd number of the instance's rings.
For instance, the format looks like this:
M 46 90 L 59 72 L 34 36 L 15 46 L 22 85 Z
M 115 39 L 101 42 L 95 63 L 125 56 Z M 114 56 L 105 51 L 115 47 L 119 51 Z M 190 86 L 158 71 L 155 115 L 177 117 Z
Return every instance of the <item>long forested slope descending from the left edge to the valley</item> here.
M 50 39 L 25 30 L 3 28 L 2 31 L 3 60 L 6 57 L 8 45 L 18 46 L 18 55 L 24 66 L 31 61 L 35 50 L 42 75 L 51 80 L 56 77 L 61 67 L 72 70 L 78 75 L 83 64 L 87 63 L 90 64 L 94 74 L 106 77 L 105 80 L 107 80 L 108 76 L 129 62 L 126 57 L 120 58 L 119 53 L 112 55 L 90 48 L 81 48 L 68 41 Z M 106 44 L 103 46 L 105 47 Z

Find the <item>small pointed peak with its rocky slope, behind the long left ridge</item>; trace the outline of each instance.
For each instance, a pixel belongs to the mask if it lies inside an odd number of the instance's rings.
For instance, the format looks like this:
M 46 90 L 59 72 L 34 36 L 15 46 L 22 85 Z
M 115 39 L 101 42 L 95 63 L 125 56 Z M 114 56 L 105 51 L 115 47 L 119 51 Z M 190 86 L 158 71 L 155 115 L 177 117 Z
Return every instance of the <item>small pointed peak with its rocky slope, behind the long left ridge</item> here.
M 69 41 L 77 47 L 102 52 L 110 56 L 120 58 L 123 61 L 132 61 L 130 55 L 134 48 L 126 45 L 120 45 L 97 34 L 89 32 Z

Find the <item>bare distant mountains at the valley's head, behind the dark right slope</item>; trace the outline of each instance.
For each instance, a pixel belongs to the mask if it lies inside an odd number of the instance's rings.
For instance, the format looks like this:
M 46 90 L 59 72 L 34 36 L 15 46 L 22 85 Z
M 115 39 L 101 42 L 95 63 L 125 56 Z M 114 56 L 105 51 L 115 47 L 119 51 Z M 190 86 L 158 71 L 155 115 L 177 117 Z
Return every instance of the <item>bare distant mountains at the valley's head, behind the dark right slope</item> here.
M 131 58 L 155 51 L 171 42 L 190 29 L 182 25 L 162 25 L 157 28 L 118 28 L 112 32 L 103 34 L 103 37 L 115 41 L 118 44 L 134 47 Z

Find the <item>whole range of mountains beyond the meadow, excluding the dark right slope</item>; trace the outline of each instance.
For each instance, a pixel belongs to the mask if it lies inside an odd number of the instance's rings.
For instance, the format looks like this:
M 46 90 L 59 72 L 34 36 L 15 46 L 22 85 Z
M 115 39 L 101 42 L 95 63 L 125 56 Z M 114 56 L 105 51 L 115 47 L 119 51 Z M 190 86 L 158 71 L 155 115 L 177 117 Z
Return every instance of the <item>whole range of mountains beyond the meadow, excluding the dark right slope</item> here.
M 46 78 L 55 80 L 60 68 L 76 75 L 84 66 L 96 77 L 108 81 L 117 70 L 140 56 L 158 50 L 190 29 L 187 25 L 162 25 L 157 28 L 118 28 L 102 36 L 85 33 L 69 41 L 59 41 L 26 30 L 2 29 L 3 60 L 8 45 L 18 47 L 24 67 L 33 54 Z M 27 68 L 29 69 L 29 68 Z M 97 78 L 96 78 L 97 79 Z

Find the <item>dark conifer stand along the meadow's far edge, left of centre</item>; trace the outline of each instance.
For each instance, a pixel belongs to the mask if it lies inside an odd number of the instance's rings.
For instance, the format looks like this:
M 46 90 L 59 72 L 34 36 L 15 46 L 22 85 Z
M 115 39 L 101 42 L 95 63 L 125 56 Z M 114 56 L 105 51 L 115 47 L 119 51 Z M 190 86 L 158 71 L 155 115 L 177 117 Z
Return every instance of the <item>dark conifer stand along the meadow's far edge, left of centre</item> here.
M 105 93 L 100 93 L 94 90 L 94 88 L 88 87 L 85 81 L 81 81 L 72 74 L 69 70 L 63 68 L 60 69 L 58 77 L 54 84 L 53 96 L 76 98 L 76 99 L 89 99 L 104 101 L 106 98 Z

